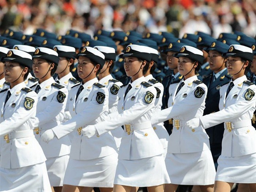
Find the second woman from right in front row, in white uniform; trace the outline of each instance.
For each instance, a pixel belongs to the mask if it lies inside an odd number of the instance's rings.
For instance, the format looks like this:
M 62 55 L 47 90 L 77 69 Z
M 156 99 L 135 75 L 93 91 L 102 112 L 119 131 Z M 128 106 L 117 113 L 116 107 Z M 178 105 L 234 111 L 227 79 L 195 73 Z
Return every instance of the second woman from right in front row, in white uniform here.
M 203 116 L 205 108 L 207 86 L 195 75 L 203 62 L 203 52 L 182 46 L 174 57 L 178 58 L 178 71 L 184 79 L 170 84 L 168 108 L 154 114 L 151 120 L 154 125 L 173 118 L 165 159 L 172 184 L 166 185 L 165 190 L 174 192 L 178 185 L 200 185 L 201 191 L 212 192 L 215 167 L 207 133 L 202 128 L 189 130 L 185 126 L 186 121 Z

